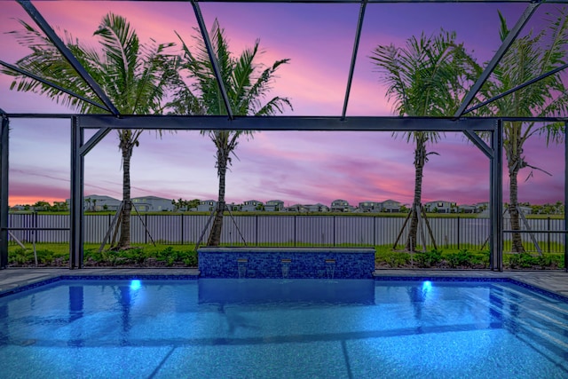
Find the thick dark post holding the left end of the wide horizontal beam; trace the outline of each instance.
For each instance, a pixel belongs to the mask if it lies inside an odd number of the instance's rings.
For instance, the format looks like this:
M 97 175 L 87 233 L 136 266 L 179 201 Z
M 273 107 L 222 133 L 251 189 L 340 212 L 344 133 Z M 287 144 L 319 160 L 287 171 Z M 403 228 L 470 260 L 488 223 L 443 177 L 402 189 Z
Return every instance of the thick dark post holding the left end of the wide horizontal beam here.
M 71 200 L 69 204 L 69 268 L 83 268 L 83 130 L 71 118 Z

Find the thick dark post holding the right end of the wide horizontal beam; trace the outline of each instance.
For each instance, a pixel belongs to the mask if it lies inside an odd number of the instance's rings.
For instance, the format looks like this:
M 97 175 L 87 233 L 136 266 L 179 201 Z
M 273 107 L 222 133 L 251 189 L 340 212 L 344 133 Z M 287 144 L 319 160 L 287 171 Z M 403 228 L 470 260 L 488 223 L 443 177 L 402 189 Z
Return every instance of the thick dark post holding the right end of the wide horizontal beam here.
M 497 121 L 497 127 L 491 136 L 493 158 L 491 160 L 489 219 L 491 241 L 491 269 L 503 271 L 503 122 Z

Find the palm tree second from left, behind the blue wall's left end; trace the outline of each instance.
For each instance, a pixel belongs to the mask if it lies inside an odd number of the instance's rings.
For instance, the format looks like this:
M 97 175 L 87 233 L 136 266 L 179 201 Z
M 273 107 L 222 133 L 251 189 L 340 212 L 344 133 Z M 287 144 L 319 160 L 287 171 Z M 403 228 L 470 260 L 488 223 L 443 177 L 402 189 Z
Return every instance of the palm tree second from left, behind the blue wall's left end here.
M 233 114 L 272 115 L 282 113 L 284 107 L 292 108 L 288 98 L 279 96 L 263 104 L 263 99 L 271 89 L 276 71 L 281 65 L 288 63 L 289 59 L 277 60 L 272 66 L 263 69 L 255 62 L 255 59 L 262 54 L 259 50 L 259 40 L 256 40 L 252 48 L 242 51 L 239 57 L 233 57 L 229 51 L 225 30 L 219 27 L 217 20 L 214 21 L 209 36 Z M 170 107 L 176 114 L 227 114 L 206 45 L 201 35 L 193 36 L 193 39 L 196 42 L 194 53 L 180 38 L 184 51 L 181 67 L 189 72 L 192 84 L 177 91 L 176 99 L 170 103 Z M 218 201 L 207 244 L 218 246 L 223 228 L 223 212 L 226 208 L 225 176 L 227 168 L 231 165 L 231 154 L 234 154 L 239 138 L 243 135 L 252 137 L 252 131 L 202 130 L 201 133 L 207 135 L 217 149 Z

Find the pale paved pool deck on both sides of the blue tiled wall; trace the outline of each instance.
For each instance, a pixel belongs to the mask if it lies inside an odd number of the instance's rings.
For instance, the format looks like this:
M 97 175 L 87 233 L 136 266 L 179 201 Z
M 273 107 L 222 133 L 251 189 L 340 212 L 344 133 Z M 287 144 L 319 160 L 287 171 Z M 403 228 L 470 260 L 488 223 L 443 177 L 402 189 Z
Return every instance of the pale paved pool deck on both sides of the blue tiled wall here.
M 49 280 L 61 275 L 199 275 L 199 271 L 192 268 L 96 268 L 82 270 L 69 270 L 67 268 L 8 268 L 0 270 L 0 292 L 42 280 Z M 375 277 L 381 276 L 510 278 L 568 297 L 568 272 L 564 271 L 376 270 Z

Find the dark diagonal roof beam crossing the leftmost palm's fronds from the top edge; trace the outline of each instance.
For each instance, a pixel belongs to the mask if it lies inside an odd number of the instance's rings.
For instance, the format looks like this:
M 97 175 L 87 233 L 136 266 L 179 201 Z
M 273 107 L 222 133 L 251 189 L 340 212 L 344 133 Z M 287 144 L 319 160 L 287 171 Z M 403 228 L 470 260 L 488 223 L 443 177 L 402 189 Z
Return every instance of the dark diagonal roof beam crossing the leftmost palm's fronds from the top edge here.
M 51 28 L 51 26 L 47 23 L 47 21 L 43 19 L 42 14 L 37 11 L 36 7 L 33 4 L 31 4 L 31 2 L 28 0 L 16 0 L 16 1 L 18 1 L 18 3 L 20 3 L 20 5 L 24 8 L 24 10 L 28 12 L 32 20 L 34 20 L 37 26 L 43 30 L 43 33 L 45 33 L 45 35 L 51 40 L 51 42 L 55 45 L 55 47 L 59 50 L 59 52 L 61 52 L 63 57 L 67 59 L 69 64 L 73 68 L 75 68 L 77 74 L 79 74 L 83 78 L 83 80 L 87 84 L 89 84 L 91 90 L 94 91 L 99 97 L 99 99 L 103 102 L 103 104 L 105 104 L 106 110 L 114 115 L 120 114 L 118 109 L 114 107 L 113 102 L 110 99 L 108 99 L 108 97 L 106 96 L 105 91 L 103 91 L 102 88 L 100 88 L 99 83 L 95 82 L 95 80 L 87 72 L 87 70 L 83 67 L 83 65 L 81 65 L 79 60 L 75 58 L 73 52 L 71 52 L 67 48 L 66 44 L 63 43 L 63 41 L 61 41 L 59 36 L 55 33 L 55 31 Z

